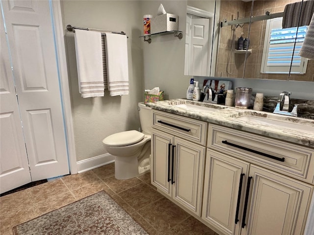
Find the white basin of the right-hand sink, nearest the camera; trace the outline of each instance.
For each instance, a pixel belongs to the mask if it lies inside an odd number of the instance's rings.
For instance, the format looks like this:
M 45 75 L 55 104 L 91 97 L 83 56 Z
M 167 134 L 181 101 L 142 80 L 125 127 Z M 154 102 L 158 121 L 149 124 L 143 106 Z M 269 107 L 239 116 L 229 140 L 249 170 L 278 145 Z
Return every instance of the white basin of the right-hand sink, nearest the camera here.
M 268 125 L 268 126 L 276 126 L 280 129 L 292 129 L 295 131 L 301 131 L 306 133 L 314 133 L 314 125 L 305 125 L 305 124 L 299 124 L 295 122 L 289 122 L 284 120 L 274 120 L 270 118 L 262 118 L 252 115 L 244 115 L 240 116 L 236 119 L 255 123 L 255 124 L 262 124 L 262 125 Z

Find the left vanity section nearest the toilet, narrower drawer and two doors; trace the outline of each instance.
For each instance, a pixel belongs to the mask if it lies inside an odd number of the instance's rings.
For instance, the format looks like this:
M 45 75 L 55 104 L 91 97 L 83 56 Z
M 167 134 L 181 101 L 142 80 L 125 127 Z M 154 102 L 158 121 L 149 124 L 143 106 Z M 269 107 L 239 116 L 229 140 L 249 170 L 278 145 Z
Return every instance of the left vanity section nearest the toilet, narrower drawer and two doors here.
M 154 112 L 153 121 L 152 185 L 200 216 L 206 154 L 200 142 L 206 141 L 207 123 L 160 112 Z

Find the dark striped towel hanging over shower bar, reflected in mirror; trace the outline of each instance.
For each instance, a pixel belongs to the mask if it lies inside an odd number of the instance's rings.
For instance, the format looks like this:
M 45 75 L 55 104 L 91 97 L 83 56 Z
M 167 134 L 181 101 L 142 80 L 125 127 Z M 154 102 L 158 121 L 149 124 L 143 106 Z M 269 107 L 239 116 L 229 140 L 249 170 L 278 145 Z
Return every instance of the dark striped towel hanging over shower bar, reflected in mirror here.
M 300 14 L 301 10 L 302 12 Z M 313 13 L 314 13 L 314 0 L 298 1 L 291 4 L 287 4 L 284 10 L 282 26 L 283 28 L 290 28 L 309 25 Z

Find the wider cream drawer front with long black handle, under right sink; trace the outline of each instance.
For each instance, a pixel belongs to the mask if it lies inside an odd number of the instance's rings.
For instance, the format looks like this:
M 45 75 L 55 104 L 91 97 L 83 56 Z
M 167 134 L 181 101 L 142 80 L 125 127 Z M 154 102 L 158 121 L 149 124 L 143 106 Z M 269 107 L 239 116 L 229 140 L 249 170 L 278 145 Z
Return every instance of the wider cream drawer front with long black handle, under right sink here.
M 209 125 L 209 148 L 314 184 L 314 149 L 217 125 Z

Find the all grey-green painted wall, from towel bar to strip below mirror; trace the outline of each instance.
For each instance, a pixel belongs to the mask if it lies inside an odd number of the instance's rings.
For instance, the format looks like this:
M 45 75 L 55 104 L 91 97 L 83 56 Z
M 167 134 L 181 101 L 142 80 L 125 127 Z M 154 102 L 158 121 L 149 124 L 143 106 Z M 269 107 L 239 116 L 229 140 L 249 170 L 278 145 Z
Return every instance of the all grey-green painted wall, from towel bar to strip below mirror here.
M 143 91 L 160 87 L 165 99 L 183 98 L 190 76 L 183 75 L 184 38 L 171 35 L 152 36 L 152 43 L 139 38 L 143 34 L 143 15 L 157 15 L 162 3 L 168 13 L 179 15 L 179 30 L 185 33 L 186 0 L 64 0 L 61 1 L 63 26 L 74 120 L 77 160 L 105 154 L 102 140 L 113 133 L 140 126 L 137 103 Z M 78 94 L 73 33 L 66 25 L 124 31 L 129 36 L 130 94 L 118 97 L 81 98 Z M 203 78 L 198 78 L 202 80 Z M 220 78 L 222 79 L 222 78 Z M 249 86 L 265 95 L 291 91 L 293 98 L 314 99 L 314 83 L 232 79 L 235 87 Z

